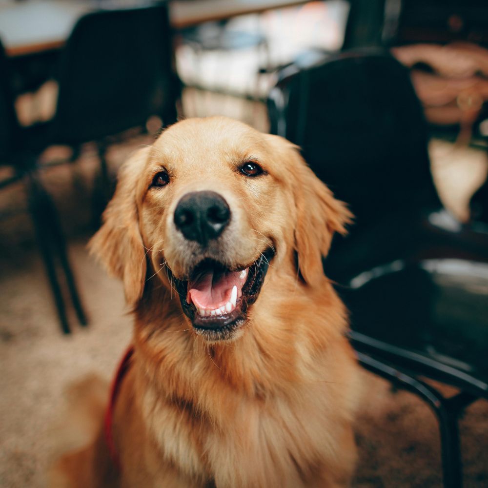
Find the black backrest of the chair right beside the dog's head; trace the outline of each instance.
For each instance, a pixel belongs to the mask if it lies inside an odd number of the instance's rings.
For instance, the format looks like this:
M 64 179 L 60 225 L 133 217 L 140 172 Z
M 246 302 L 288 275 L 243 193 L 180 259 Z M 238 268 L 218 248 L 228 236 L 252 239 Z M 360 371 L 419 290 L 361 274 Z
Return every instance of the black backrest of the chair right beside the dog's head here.
M 381 54 L 341 54 L 285 76 L 271 92 L 271 132 L 305 160 L 358 228 L 387 215 L 441 206 L 427 153 L 427 127 L 408 70 Z

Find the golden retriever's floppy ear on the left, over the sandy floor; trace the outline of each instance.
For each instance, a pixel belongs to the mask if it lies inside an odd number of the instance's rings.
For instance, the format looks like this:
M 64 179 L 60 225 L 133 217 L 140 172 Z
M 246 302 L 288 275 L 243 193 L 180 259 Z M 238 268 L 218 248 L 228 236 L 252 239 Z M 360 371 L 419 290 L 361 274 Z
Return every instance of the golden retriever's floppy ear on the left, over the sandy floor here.
M 88 243 L 90 253 L 102 262 L 108 273 L 122 280 L 130 306 L 141 299 L 146 275 L 136 188 L 148 151 L 149 147 L 139 149 L 122 165 L 115 195 L 103 212 L 102 227 Z

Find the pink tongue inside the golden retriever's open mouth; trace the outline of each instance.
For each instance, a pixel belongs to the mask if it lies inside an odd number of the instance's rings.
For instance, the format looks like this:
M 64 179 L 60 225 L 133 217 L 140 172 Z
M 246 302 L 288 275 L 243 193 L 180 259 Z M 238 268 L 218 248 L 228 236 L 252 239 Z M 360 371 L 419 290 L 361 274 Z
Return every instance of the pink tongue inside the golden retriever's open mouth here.
M 230 300 L 234 285 L 241 289 L 240 273 L 208 270 L 188 282 L 186 301 L 205 310 L 214 310 Z

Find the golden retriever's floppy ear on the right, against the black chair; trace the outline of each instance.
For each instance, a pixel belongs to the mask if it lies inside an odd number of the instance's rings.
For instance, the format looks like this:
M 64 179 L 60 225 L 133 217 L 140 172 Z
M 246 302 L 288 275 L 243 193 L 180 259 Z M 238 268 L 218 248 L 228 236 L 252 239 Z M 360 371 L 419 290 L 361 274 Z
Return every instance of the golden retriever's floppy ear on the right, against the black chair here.
M 346 204 L 336 200 L 315 176 L 296 145 L 286 141 L 286 151 L 290 164 L 285 166 L 296 205 L 294 237 L 297 265 L 305 283 L 318 285 L 324 278 L 322 257 L 327 255 L 334 233 L 346 234 L 345 225 L 352 221 L 353 216 Z

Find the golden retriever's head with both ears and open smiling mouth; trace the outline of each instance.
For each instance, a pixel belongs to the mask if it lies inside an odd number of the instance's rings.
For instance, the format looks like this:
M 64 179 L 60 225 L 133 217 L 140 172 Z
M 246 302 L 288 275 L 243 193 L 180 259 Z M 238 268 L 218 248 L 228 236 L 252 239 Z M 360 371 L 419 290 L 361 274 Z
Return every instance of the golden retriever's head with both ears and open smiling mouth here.
M 90 245 L 129 305 L 160 279 L 193 330 L 216 341 L 237 337 L 266 273 L 320 286 L 321 257 L 349 217 L 290 142 L 222 117 L 188 119 L 124 164 Z

